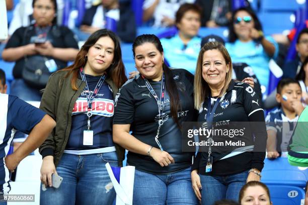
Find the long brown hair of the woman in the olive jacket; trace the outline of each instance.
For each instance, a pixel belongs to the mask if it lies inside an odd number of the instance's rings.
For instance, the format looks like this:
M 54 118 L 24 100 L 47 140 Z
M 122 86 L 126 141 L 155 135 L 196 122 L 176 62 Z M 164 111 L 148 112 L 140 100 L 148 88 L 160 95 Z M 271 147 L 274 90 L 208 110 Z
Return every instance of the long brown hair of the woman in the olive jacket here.
M 85 44 L 78 52 L 74 63 L 60 70 L 60 71 L 65 71 L 65 70 L 69 71 L 65 75 L 65 77 L 68 77 L 72 73 L 71 87 L 73 90 L 78 90 L 78 85 L 76 84 L 76 81 L 79 75 L 79 69 L 86 65 L 87 63 L 86 55 L 90 47 L 92 47 L 101 37 L 104 36 L 110 37 L 115 45 L 113 63 L 106 70 L 107 73 L 106 78 L 110 78 L 118 88 L 121 87 L 124 84 L 124 82 L 126 82 L 127 77 L 125 73 L 125 67 L 122 61 L 120 41 L 112 31 L 109 31 L 107 29 L 101 29 L 93 33 L 88 38 L 88 40 L 85 42 Z

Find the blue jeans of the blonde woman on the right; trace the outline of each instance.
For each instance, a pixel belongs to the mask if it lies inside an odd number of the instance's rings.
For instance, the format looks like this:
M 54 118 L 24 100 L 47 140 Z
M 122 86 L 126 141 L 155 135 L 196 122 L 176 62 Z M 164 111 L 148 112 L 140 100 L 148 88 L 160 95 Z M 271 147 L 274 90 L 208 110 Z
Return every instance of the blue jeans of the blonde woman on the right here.
M 216 200 L 224 198 L 238 201 L 240 190 L 246 184 L 248 170 L 226 176 L 199 175 L 202 185 L 201 204 L 212 205 Z

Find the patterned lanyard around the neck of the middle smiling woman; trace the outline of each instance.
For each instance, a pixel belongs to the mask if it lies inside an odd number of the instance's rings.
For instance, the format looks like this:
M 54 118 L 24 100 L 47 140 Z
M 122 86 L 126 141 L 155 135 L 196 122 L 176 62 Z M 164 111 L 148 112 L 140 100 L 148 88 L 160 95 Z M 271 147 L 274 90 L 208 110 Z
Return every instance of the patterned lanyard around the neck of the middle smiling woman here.
M 157 101 L 158 110 L 159 110 L 159 121 L 158 121 L 159 127 L 157 129 L 155 141 L 158 144 L 158 146 L 160 147 L 160 149 L 162 151 L 164 151 L 163 146 L 159 142 L 158 138 L 159 138 L 161 126 L 164 124 L 163 115 L 164 115 L 164 107 L 165 107 L 165 73 L 163 73 L 163 76 L 162 76 L 161 99 L 159 99 L 159 97 L 157 96 L 156 92 L 154 91 L 154 89 L 152 88 L 152 86 L 148 82 L 148 80 L 143 75 L 141 75 L 141 76 L 144 79 L 145 86 L 147 87 L 147 89 L 150 91 L 150 93 L 153 95 L 153 97 Z

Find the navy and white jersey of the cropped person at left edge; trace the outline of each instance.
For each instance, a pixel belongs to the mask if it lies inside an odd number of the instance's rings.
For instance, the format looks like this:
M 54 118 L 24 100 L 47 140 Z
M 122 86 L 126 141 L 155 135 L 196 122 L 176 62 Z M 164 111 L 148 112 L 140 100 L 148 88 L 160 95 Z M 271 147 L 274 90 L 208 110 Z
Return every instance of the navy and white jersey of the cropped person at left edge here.
M 0 193 L 8 193 L 9 170 L 4 159 L 8 154 L 16 130 L 29 134 L 45 113 L 16 96 L 0 93 Z

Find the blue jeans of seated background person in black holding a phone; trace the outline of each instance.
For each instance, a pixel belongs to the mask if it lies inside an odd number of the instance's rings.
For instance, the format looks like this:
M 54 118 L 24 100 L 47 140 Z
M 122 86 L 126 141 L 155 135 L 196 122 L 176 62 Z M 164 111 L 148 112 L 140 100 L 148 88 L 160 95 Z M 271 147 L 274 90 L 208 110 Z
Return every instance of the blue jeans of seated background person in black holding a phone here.
M 30 87 L 23 79 L 14 79 L 12 81 L 10 94 L 25 101 L 41 101 L 40 90 Z

